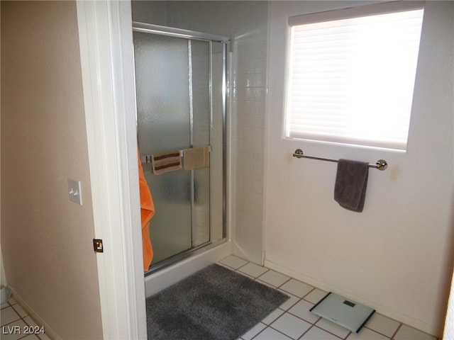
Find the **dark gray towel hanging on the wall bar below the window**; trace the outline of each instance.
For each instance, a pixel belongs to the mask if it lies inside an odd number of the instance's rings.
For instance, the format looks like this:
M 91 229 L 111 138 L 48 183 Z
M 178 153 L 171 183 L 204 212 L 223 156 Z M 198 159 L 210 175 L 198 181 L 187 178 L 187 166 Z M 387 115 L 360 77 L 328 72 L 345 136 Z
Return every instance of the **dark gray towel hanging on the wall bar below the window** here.
M 368 174 L 368 163 L 339 159 L 334 200 L 345 209 L 362 212 Z

